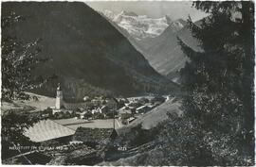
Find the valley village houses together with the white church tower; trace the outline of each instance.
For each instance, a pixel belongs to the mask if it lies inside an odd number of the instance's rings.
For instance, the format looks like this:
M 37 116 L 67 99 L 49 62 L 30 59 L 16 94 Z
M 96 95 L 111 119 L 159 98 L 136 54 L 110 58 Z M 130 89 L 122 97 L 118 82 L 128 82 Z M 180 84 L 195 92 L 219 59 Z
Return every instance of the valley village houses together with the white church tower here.
M 55 119 L 109 119 L 118 117 L 123 125 L 134 121 L 139 115 L 154 109 L 170 96 L 149 96 L 136 98 L 107 98 L 85 96 L 82 102 L 67 103 L 64 101 L 63 90 L 59 85 L 57 88 L 55 107 L 52 115 Z

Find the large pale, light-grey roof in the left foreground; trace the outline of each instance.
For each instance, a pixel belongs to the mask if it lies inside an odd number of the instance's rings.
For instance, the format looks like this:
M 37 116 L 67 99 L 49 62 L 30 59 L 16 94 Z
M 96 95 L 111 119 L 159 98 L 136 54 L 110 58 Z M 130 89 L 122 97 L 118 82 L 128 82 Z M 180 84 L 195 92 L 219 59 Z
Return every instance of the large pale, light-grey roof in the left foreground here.
M 45 142 L 52 139 L 71 136 L 75 130 L 60 125 L 51 120 L 42 120 L 39 123 L 29 127 L 24 135 L 32 142 Z

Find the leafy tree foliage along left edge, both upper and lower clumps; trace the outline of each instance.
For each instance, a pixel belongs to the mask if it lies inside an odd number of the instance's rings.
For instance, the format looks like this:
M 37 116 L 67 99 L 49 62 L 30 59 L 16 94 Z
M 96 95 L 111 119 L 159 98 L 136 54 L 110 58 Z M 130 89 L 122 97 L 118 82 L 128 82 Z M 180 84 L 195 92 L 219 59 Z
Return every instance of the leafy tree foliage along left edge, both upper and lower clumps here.
M 43 82 L 43 77 L 33 77 L 32 70 L 35 66 L 46 58 L 39 58 L 40 53 L 39 40 L 34 42 L 22 42 L 13 33 L 11 28 L 25 20 L 24 17 L 10 13 L 8 16 L 2 16 L 2 100 L 11 101 L 14 99 L 29 98 L 25 92 L 31 90 Z M 14 151 L 9 149 L 9 146 L 16 144 L 31 143 L 29 139 L 24 136 L 24 131 L 36 124 L 39 118 L 30 117 L 25 114 L 26 109 L 18 110 L 9 109 L 2 113 L 2 158 L 6 159 L 13 154 Z M 13 153 L 14 152 L 14 153 Z

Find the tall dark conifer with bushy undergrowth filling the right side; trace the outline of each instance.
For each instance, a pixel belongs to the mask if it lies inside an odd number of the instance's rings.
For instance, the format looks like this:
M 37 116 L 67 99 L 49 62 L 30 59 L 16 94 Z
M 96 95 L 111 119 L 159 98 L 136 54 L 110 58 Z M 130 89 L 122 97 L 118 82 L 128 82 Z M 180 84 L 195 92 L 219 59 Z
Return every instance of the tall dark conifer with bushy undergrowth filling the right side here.
M 178 39 L 190 58 L 181 70 L 184 116 L 170 116 L 161 138 L 175 165 L 252 165 L 254 4 L 199 2 L 209 13 L 189 27 L 202 52 Z

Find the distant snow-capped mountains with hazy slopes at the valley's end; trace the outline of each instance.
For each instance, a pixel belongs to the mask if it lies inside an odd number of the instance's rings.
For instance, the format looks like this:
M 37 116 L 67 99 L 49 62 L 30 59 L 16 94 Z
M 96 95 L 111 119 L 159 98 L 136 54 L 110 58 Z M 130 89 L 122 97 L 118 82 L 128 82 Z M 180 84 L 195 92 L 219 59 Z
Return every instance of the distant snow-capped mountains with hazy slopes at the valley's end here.
M 101 14 L 119 29 L 119 31 L 137 48 L 137 51 L 149 60 L 150 64 L 158 73 L 167 75 L 173 81 L 177 82 L 179 70 L 183 68 L 185 62 L 189 60 L 184 56 L 177 42 L 177 37 L 190 45 L 194 50 L 200 51 L 200 47 L 198 46 L 199 42 L 192 37 L 191 31 L 187 27 L 187 22 L 182 19 L 172 21 L 168 16 L 159 19 L 151 19 L 147 16 L 137 16 L 136 13 L 133 15 L 127 13 L 130 12 L 122 11 L 118 15 L 115 15 L 113 12 L 106 10 Z M 158 27 L 160 30 L 157 31 L 158 33 L 155 33 L 155 36 L 146 36 L 145 32 L 149 32 L 147 28 L 143 31 L 136 31 L 135 29 L 137 29 L 137 27 L 145 25 L 145 22 L 138 18 L 147 18 L 148 21 L 150 20 L 148 23 L 154 23 L 155 27 Z M 142 27 L 151 26 L 152 25 Z M 135 31 L 137 33 L 135 33 Z

